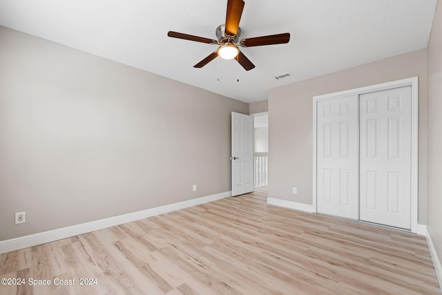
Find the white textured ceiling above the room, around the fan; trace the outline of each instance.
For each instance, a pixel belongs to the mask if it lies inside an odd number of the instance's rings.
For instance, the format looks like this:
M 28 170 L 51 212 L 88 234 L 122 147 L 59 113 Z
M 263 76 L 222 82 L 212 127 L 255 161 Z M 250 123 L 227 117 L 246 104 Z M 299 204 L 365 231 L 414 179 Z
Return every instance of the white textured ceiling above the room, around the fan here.
M 427 47 L 436 2 L 245 0 L 241 38 L 291 34 L 289 44 L 241 48 L 256 65 L 248 72 L 218 58 L 193 68 L 216 46 L 167 37 L 175 30 L 216 39 L 227 0 L 0 0 L 0 25 L 258 102 L 269 88 Z

